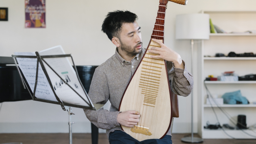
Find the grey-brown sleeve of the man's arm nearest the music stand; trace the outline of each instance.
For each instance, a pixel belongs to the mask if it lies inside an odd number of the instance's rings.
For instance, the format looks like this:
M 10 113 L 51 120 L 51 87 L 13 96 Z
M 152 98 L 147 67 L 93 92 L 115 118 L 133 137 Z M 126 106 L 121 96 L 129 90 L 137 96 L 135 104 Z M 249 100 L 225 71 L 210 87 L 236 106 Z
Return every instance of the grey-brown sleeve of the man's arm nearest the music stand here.
M 95 70 L 88 95 L 93 103 L 106 104 L 108 102 L 108 80 L 100 68 Z M 117 122 L 119 111 L 108 111 L 103 107 L 97 111 L 88 109 L 83 109 L 83 111 L 86 117 L 98 128 L 111 129 L 119 126 Z

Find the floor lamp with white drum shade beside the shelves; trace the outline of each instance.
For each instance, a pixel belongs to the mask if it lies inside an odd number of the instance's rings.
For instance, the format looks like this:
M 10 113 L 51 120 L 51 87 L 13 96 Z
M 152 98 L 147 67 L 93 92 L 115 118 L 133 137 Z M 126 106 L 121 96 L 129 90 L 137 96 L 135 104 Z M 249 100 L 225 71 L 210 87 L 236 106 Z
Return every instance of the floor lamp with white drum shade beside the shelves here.
M 208 14 L 185 14 L 176 16 L 176 39 L 191 40 L 191 72 L 193 72 L 194 40 L 209 39 L 210 18 Z M 193 92 L 191 92 L 191 137 L 184 137 L 182 142 L 201 143 L 202 138 L 193 137 Z

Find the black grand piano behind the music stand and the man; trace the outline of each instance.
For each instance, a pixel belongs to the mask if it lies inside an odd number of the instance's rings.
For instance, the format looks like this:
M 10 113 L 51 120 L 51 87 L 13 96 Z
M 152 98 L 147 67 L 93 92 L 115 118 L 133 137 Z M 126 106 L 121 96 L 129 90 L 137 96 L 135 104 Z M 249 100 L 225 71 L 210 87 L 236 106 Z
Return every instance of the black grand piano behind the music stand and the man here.
M 76 66 L 78 76 L 88 93 L 91 80 L 98 66 Z M 19 72 L 12 57 L 0 57 L 0 103 L 32 100 L 27 89 L 24 89 Z M 91 124 L 92 144 L 98 144 L 98 127 Z

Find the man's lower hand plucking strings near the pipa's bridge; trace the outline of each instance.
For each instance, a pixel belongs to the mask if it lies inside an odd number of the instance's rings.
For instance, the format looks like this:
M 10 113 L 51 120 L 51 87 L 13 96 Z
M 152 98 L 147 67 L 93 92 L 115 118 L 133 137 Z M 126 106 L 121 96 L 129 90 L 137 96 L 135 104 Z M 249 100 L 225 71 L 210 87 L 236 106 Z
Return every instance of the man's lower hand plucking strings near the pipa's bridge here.
M 117 122 L 122 126 L 133 127 L 139 122 L 141 115 L 137 111 L 124 111 L 117 115 Z

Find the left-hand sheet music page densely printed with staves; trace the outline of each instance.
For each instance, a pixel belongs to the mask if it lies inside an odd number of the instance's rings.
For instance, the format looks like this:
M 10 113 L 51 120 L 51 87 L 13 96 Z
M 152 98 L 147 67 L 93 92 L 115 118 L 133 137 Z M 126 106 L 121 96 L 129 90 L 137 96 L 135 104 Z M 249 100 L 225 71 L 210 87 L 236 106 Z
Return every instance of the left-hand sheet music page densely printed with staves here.
M 15 55 L 32 55 L 35 56 L 34 52 L 15 52 Z M 37 59 L 36 58 L 19 58 L 17 57 L 17 61 L 19 63 L 20 70 L 24 74 L 24 77 L 28 81 L 28 85 L 32 92 L 34 92 L 35 87 L 35 75 L 36 75 L 36 68 L 37 68 Z M 42 67 L 39 63 L 38 66 L 38 78 L 37 78 L 37 89 L 35 91 L 35 97 L 44 99 L 44 100 L 51 100 L 56 101 L 56 97 L 48 83 L 45 73 L 42 70 Z

